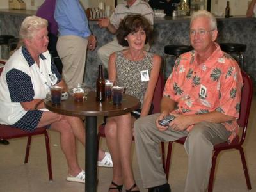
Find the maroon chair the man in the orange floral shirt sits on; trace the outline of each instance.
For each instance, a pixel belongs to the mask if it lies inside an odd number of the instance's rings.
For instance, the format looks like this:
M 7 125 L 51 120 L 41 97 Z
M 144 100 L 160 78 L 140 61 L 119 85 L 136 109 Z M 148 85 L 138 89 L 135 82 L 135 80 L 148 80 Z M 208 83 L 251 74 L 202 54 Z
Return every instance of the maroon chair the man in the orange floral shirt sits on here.
M 227 142 L 220 143 L 218 145 L 214 145 L 214 152 L 212 155 L 212 168 L 211 168 L 211 173 L 210 173 L 210 177 L 209 177 L 209 185 L 208 185 L 209 192 L 212 192 L 217 156 L 221 151 L 230 150 L 230 149 L 239 150 L 240 156 L 241 156 L 241 161 L 243 164 L 243 170 L 244 170 L 244 176 L 246 179 L 247 188 L 249 190 L 252 189 L 242 145 L 245 140 L 247 125 L 248 125 L 248 118 L 250 115 L 250 108 L 251 108 L 252 95 L 253 95 L 253 84 L 252 84 L 252 80 L 250 79 L 250 76 L 248 76 L 243 71 L 242 71 L 242 76 L 243 76 L 244 87 L 243 87 L 243 91 L 242 91 L 242 95 L 241 95 L 240 116 L 239 116 L 239 119 L 237 120 L 237 123 L 239 124 L 239 126 L 242 129 L 242 135 L 241 135 L 241 138 L 239 138 L 239 136 L 236 136 L 236 138 L 234 138 L 234 140 L 232 141 L 232 143 L 230 145 Z M 166 157 L 166 166 L 165 166 L 165 173 L 166 173 L 167 179 L 168 179 L 169 169 L 170 169 L 172 143 L 175 142 L 175 143 L 180 143 L 180 144 L 184 145 L 185 141 L 186 141 L 186 137 L 180 138 L 179 140 L 176 140 L 176 141 L 169 142 L 168 153 L 167 153 L 167 157 Z

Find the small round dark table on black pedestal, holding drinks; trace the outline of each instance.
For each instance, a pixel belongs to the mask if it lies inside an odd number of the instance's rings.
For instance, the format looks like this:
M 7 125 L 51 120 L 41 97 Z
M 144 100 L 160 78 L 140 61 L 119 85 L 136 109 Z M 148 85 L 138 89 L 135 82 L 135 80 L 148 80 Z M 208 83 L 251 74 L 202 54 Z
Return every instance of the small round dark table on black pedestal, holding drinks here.
M 54 113 L 68 116 L 86 118 L 86 191 L 97 190 L 97 117 L 117 116 L 134 111 L 140 106 L 140 100 L 131 95 L 124 94 L 122 104 L 115 106 L 111 99 L 104 102 L 96 101 L 95 92 L 90 92 L 83 102 L 75 102 L 74 97 L 62 100 L 60 106 L 54 106 L 50 100 L 45 99 L 45 107 Z

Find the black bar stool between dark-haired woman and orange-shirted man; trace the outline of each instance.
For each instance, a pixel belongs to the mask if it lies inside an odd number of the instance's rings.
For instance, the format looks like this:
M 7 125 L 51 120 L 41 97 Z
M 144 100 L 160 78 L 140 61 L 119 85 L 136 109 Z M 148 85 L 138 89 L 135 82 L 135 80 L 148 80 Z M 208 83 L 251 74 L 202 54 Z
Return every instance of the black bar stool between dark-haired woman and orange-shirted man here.
M 166 80 L 165 72 L 166 72 L 166 60 L 168 57 L 173 56 L 175 59 L 180 56 L 180 54 L 184 52 L 189 52 L 193 50 L 193 47 L 190 45 L 166 45 L 164 46 L 164 65 L 163 65 L 163 75 L 164 81 Z M 174 63 L 173 63 L 174 65 Z M 173 67 L 172 65 L 172 67 Z

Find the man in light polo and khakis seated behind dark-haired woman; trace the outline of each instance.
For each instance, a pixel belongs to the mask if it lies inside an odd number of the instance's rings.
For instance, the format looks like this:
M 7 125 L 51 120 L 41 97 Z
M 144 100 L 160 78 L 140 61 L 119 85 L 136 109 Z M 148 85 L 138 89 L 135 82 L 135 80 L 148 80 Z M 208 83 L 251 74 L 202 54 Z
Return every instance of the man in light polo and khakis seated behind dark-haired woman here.
M 103 18 L 99 19 L 99 26 L 100 28 L 108 28 L 108 31 L 112 34 L 115 34 L 119 23 L 126 15 L 136 15 L 140 14 L 144 16 L 150 24 L 153 26 L 154 24 L 154 12 L 150 5 L 142 0 L 126 0 L 123 3 L 120 3 L 116 6 L 115 12 L 111 15 L 109 18 Z M 147 51 L 149 51 L 149 45 L 147 46 Z M 103 45 L 98 49 L 98 56 L 100 60 L 102 61 L 104 67 L 108 69 L 108 60 L 110 54 L 116 51 L 122 51 L 124 49 L 127 49 L 127 47 L 124 47 L 120 44 L 118 44 L 116 37 L 113 39 L 113 41 L 109 42 L 106 45 Z

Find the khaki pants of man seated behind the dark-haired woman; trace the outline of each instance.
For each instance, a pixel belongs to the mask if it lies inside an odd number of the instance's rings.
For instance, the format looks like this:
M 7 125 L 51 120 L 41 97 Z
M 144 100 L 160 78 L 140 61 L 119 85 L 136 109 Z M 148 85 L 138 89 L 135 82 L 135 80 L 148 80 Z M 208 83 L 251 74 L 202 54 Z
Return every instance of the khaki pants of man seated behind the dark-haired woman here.
M 127 49 L 127 48 L 128 47 L 123 47 L 122 45 L 118 44 L 118 41 L 115 37 L 113 39 L 113 41 L 111 41 L 108 44 L 103 45 L 102 47 L 100 47 L 97 51 L 97 54 L 100 58 L 100 61 L 102 61 L 103 66 L 108 70 L 109 56 L 113 52 L 122 51 L 122 50 Z M 145 45 L 145 50 L 149 51 L 149 49 L 150 49 L 150 45 L 149 44 Z

